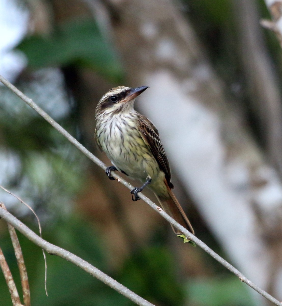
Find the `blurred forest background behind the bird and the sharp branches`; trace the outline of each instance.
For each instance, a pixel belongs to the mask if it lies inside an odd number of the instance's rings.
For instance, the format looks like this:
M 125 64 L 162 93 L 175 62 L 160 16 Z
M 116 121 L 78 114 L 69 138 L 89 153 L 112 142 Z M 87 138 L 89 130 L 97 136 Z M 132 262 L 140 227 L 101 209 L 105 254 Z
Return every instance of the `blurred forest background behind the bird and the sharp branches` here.
M 0 74 L 108 166 L 94 141 L 98 100 L 114 86 L 149 86 L 136 109 L 159 130 L 196 236 L 281 300 L 282 58 L 262 18 L 263 0 L 0 0 Z M 153 304 L 268 305 L 4 86 L 0 169 L 44 239 Z M 30 211 L 0 194 L 38 232 Z M 49 255 L 46 297 L 42 250 L 19 239 L 32 305 L 133 305 Z M 20 289 L 4 221 L 0 244 Z M 12 305 L 1 275 L 0 300 Z

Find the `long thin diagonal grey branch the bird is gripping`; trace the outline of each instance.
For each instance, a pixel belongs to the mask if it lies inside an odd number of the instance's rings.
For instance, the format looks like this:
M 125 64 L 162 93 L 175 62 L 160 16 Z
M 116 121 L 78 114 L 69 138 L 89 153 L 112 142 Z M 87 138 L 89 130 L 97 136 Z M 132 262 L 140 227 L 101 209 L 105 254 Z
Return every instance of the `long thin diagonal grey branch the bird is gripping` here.
M 72 144 L 74 144 L 82 153 L 84 153 L 88 158 L 90 158 L 93 162 L 95 162 L 102 169 L 106 169 L 106 166 L 103 162 L 101 162 L 96 156 L 94 156 L 90 151 L 88 151 L 85 147 L 82 146 L 74 137 L 72 137 L 65 129 L 63 129 L 56 121 L 54 121 L 45 111 L 43 111 L 37 104 L 35 104 L 32 99 L 28 98 L 21 91 L 19 91 L 13 84 L 11 84 L 8 80 L 6 80 L 3 76 L 0 75 L 0 81 L 6 85 L 11 91 L 13 91 L 18 97 L 20 97 L 25 103 L 31 106 L 39 115 L 41 115 L 46 121 L 48 121 L 57 131 L 59 131 L 63 136 L 65 136 Z M 125 181 L 122 177 L 116 174 L 114 171 L 111 172 L 111 175 L 125 185 L 129 189 L 133 189 L 133 186 Z M 172 224 L 175 228 L 180 230 L 189 240 L 194 241 L 200 248 L 202 248 L 205 252 L 210 254 L 215 260 L 221 263 L 224 267 L 226 267 L 229 271 L 234 273 L 236 276 L 240 278 L 240 280 L 246 283 L 248 286 L 253 288 L 255 291 L 260 293 L 263 297 L 271 301 L 275 305 L 282 306 L 282 303 L 272 297 L 269 293 L 262 290 L 260 287 L 251 282 L 248 278 L 246 278 L 239 270 L 233 267 L 230 263 L 228 263 L 225 259 L 215 253 L 211 248 L 209 248 L 203 241 L 198 239 L 188 230 L 186 230 L 183 226 L 178 224 L 173 218 L 167 215 L 160 207 L 158 207 L 155 203 L 153 203 L 150 199 L 144 196 L 141 192 L 138 193 L 138 196 L 145 201 L 150 207 L 152 207 L 155 211 L 157 211 L 163 218 L 165 218 L 170 224 Z M 2 212 L 0 215 L 2 215 Z M 3 217 L 4 218 L 4 217 Z M 6 219 L 5 219 L 6 220 Z M 14 226 L 16 227 L 16 226 Z M 34 241 L 35 242 L 35 241 Z M 67 258 L 66 258 L 67 259 Z

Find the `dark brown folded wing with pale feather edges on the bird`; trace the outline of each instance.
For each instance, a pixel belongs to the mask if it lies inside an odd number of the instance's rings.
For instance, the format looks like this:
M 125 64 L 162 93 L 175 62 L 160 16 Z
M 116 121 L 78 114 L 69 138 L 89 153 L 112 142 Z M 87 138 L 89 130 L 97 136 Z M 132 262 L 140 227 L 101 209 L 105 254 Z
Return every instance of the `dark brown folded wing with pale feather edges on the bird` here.
M 170 183 L 170 167 L 167 160 L 167 155 L 163 149 L 163 145 L 159 139 L 159 132 L 156 129 L 155 125 L 152 124 L 150 120 L 146 117 L 138 114 L 138 121 L 139 121 L 139 129 L 138 132 L 140 133 L 144 142 L 150 148 L 153 156 L 155 157 L 156 161 L 160 169 L 164 172 L 165 177 L 167 179 L 168 184 Z M 171 188 L 172 188 L 171 184 Z

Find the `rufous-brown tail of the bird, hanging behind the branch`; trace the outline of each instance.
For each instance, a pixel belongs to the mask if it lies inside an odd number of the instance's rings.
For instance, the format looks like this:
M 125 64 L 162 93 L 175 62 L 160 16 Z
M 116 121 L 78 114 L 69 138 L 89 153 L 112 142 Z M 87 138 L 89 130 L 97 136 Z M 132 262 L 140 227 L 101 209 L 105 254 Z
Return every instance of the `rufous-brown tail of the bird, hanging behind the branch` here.
M 189 219 L 185 215 L 185 212 L 183 211 L 182 207 L 180 206 L 178 200 L 174 196 L 173 192 L 171 191 L 171 188 L 168 186 L 166 181 L 165 184 L 167 185 L 167 190 L 170 195 L 170 198 L 166 199 L 155 194 L 161 207 L 168 215 L 170 215 L 171 218 L 173 218 L 176 222 L 185 227 L 185 229 L 189 230 L 192 234 L 194 234 L 195 232 L 192 228 Z M 174 233 L 176 233 L 177 235 L 182 234 L 181 231 L 176 229 L 174 226 L 171 225 L 171 227 Z

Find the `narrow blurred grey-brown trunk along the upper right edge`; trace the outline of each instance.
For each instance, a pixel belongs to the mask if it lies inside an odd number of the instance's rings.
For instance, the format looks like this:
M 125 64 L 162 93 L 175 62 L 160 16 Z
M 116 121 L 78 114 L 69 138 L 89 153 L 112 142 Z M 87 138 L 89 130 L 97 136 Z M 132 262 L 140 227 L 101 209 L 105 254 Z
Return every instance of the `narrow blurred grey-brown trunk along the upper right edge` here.
M 268 157 L 282 176 L 282 105 L 278 78 L 263 39 L 257 2 L 233 0 L 238 29 L 238 53 L 251 99 L 251 110 L 258 124 Z

